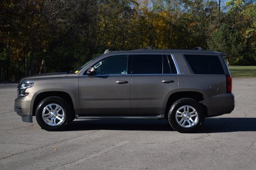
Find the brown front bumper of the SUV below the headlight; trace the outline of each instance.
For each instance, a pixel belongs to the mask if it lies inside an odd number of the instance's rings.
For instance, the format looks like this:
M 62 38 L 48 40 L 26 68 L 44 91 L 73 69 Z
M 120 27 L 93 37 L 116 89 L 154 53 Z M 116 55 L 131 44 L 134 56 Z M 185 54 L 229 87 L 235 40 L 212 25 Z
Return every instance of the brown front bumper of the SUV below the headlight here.
M 22 121 L 32 123 L 32 110 L 30 107 L 32 96 L 34 93 L 29 93 L 28 96 L 18 97 L 14 102 L 14 111 L 21 116 Z

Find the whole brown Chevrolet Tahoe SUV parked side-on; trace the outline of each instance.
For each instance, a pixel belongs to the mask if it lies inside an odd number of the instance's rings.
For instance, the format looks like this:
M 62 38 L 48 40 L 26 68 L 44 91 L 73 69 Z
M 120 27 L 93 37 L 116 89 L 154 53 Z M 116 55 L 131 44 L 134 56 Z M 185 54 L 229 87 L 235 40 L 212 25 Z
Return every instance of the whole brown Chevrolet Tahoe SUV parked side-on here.
M 40 74 L 18 85 L 22 121 L 62 130 L 73 119 L 167 119 L 194 132 L 205 117 L 234 109 L 224 53 L 198 50 L 106 51 L 74 72 Z

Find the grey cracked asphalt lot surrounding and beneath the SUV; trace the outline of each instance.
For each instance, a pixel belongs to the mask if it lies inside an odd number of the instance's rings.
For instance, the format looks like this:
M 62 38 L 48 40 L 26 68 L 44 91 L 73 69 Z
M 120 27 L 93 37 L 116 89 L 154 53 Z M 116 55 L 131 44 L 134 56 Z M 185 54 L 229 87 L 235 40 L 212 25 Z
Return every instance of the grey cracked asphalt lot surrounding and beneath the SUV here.
M 75 120 L 48 132 L 14 112 L 16 87 L 0 84 L 0 169 L 256 169 L 256 78 L 234 78 L 234 111 L 192 134 L 166 120 Z

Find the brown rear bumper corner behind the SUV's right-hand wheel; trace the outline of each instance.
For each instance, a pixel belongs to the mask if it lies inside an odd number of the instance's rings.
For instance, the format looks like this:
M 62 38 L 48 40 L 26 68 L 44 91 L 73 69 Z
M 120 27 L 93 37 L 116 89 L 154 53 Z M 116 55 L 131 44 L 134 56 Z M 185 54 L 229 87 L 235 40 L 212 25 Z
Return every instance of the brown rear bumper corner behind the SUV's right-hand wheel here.
M 219 94 L 210 98 L 208 117 L 231 113 L 235 107 L 234 94 Z

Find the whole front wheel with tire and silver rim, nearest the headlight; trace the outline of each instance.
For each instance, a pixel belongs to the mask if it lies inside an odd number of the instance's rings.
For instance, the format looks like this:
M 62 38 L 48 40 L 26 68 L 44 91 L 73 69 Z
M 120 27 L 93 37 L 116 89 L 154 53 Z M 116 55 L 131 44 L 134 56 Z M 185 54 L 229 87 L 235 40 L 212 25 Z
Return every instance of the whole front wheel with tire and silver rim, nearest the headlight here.
M 36 108 L 36 121 L 42 129 L 60 131 L 73 120 L 74 113 L 66 100 L 51 96 L 42 100 Z

